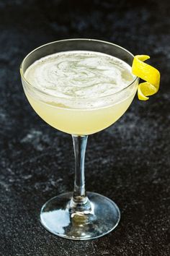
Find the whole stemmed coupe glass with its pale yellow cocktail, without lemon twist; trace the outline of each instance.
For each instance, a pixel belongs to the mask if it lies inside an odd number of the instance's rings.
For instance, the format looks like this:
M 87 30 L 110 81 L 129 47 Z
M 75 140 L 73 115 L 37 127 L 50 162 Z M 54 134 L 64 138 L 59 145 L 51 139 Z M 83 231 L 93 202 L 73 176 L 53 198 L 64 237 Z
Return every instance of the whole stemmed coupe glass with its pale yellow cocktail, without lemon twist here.
M 138 88 L 133 60 L 133 54 L 114 43 L 76 38 L 47 43 L 22 61 L 22 85 L 32 108 L 73 138 L 73 192 L 51 198 L 40 211 L 42 226 L 56 236 L 96 239 L 120 221 L 115 202 L 86 192 L 84 159 L 88 135 L 115 123 L 133 101 Z M 140 89 L 143 93 L 142 85 Z

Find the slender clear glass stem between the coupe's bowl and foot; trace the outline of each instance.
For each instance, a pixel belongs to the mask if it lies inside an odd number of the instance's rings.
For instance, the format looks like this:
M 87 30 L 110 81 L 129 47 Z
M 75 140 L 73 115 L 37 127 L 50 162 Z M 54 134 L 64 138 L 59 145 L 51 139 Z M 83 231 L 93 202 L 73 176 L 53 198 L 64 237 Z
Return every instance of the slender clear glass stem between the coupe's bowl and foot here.
M 84 212 L 91 209 L 88 197 L 86 197 L 85 177 L 84 177 L 84 159 L 86 153 L 86 142 L 88 136 L 72 135 L 73 150 L 75 155 L 75 179 L 73 197 L 70 208 L 75 211 Z

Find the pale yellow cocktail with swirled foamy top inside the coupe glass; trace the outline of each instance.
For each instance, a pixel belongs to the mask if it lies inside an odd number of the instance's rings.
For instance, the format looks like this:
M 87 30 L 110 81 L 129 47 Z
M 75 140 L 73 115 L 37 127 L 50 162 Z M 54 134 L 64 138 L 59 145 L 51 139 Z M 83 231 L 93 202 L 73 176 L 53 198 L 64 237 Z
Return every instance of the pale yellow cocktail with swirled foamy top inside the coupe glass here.
M 24 77 L 34 87 L 24 88 L 32 108 L 52 127 L 72 135 L 90 135 L 115 123 L 138 85 L 136 80 L 127 88 L 135 77 L 125 61 L 94 51 L 45 56 Z

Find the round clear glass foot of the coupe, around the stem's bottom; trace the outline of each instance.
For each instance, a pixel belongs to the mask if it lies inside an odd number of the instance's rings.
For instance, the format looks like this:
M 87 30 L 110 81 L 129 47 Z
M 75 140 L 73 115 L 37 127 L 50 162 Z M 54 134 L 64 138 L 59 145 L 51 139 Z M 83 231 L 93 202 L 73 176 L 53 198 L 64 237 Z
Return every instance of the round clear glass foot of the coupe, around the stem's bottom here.
M 73 212 L 69 209 L 72 192 L 53 197 L 42 206 L 40 221 L 51 233 L 66 239 L 88 240 L 108 234 L 120 221 L 120 210 L 103 195 L 86 193 L 91 210 Z

